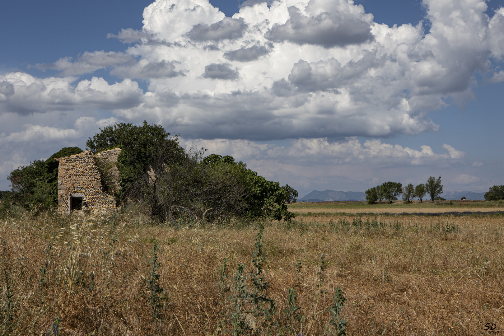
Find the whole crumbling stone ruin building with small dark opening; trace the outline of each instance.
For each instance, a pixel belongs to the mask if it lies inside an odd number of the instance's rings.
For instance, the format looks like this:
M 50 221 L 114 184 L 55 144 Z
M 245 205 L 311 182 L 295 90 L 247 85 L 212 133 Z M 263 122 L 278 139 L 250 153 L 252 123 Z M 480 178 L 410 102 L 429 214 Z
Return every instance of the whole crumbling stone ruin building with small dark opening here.
M 70 214 L 73 210 L 89 209 L 113 211 L 119 190 L 117 157 L 120 148 L 94 155 L 91 151 L 56 159 L 58 165 L 58 212 Z M 102 185 L 105 169 L 108 185 Z M 107 192 L 105 192 L 107 191 Z

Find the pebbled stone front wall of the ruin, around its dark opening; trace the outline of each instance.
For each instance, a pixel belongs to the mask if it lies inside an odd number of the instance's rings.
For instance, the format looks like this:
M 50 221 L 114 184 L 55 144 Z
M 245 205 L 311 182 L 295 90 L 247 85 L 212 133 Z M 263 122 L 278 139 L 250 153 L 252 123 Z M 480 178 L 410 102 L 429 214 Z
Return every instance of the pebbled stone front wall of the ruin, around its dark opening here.
M 114 150 L 112 150 L 114 151 Z M 113 156 L 115 154 L 110 154 Z M 95 156 L 91 151 L 59 159 L 58 211 L 68 214 L 70 196 L 83 196 L 84 205 L 90 210 L 115 209 L 115 197 L 105 192 L 101 185 Z

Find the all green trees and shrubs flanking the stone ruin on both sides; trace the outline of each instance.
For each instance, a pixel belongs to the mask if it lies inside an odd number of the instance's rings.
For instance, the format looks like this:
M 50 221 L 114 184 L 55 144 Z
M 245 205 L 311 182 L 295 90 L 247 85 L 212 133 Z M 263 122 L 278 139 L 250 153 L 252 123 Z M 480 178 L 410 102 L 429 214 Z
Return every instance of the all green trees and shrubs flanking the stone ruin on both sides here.
M 121 148 L 117 159 L 120 189 L 113 196 L 118 203 L 139 202 L 157 222 L 294 217 L 287 211 L 287 203 L 295 202 L 298 194 L 288 184 L 269 181 L 231 156 L 205 157 L 204 149 L 182 148 L 178 136 L 171 136 L 160 125 L 116 123 L 100 128 L 86 146 L 95 154 Z M 45 161 L 36 160 L 12 171 L 8 177 L 12 189 L 2 193 L 3 207 L 15 204 L 29 210 L 55 209 L 58 162 L 54 159 L 81 152 L 78 147 L 64 148 Z

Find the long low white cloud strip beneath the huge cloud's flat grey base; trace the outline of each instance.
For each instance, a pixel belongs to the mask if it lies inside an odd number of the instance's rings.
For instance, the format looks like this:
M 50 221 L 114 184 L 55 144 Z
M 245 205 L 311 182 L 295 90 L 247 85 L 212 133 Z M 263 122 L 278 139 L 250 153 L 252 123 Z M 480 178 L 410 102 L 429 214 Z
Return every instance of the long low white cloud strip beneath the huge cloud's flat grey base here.
M 195 140 L 187 140 L 190 146 Z M 325 138 L 291 140 L 288 146 L 259 144 L 249 140 L 196 140 L 199 147 L 208 149 L 209 153 L 231 155 L 236 160 L 268 160 L 281 164 L 301 166 L 318 165 L 410 165 L 426 164 L 446 165 L 458 163 L 465 153 L 450 145 L 444 144 L 448 153 L 434 153 L 430 146 L 421 146 L 415 150 L 400 145 L 382 143 L 380 140 L 367 140 L 361 144 L 355 137 L 341 142 L 330 142 Z

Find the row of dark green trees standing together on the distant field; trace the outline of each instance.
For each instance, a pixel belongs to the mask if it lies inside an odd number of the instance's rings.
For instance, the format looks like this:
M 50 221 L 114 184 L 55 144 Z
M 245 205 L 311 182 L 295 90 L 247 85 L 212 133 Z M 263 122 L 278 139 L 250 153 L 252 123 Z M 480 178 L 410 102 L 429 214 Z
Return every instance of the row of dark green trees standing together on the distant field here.
M 369 188 L 365 193 L 368 204 L 375 204 L 377 202 L 382 203 L 383 199 L 392 203 L 394 200 L 398 199 L 397 197 L 399 195 L 403 195 L 404 201 L 408 204 L 411 203 L 415 197 L 418 197 L 420 203 L 422 203 L 425 194 L 428 194 L 433 202 L 443 193 L 443 185 L 441 184 L 441 176 L 437 179 L 430 176 L 425 184 L 420 183 L 416 187 L 411 183 L 403 187 L 402 183 L 389 181 Z

